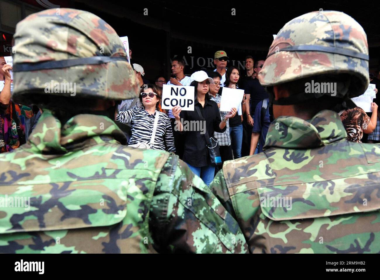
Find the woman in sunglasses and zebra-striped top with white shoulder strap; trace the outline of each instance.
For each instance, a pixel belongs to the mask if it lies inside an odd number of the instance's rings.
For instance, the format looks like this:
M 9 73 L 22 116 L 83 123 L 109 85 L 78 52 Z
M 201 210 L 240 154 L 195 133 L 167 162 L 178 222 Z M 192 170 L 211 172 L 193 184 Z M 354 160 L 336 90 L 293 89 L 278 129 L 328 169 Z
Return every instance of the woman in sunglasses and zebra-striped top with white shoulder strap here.
M 133 147 L 143 147 L 146 144 L 150 149 L 166 150 L 175 152 L 173 131 L 169 117 L 159 110 L 161 101 L 161 91 L 155 85 L 145 85 L 139 95 L 142 107 L 131 107 L 126 111 L 121 111 L 116 116 L 116 120 L 130 124 L 132 136 L 128 144 Z M 154 124 L 158 114 L 157 127 L 153 144 L 151 142 L 154 133 Z

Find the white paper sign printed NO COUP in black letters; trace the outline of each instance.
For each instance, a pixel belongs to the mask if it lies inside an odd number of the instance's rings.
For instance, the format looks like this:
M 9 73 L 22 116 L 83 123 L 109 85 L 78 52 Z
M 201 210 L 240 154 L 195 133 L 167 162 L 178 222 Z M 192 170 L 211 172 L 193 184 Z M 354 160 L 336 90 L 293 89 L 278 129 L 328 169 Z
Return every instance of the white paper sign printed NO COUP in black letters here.
M 194 87 L 162 85 L 162 109 L 180 106 L 182 111 L 194 111 Z

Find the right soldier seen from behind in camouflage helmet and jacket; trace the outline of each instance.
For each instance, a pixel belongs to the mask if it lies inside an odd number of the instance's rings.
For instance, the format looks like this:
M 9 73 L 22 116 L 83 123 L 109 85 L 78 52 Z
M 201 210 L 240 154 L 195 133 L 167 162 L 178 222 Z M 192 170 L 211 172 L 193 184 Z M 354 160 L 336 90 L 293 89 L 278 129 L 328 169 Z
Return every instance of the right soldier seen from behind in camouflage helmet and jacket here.
M 368 59 L 363 28 L 341 12 L 277 34 L 258 75 L 276 118 L 264 152 L 226 162 L 210 186 L 250 253 L 380 253 L 380 147 L 347 141 L 328 110 L 364 93 Z

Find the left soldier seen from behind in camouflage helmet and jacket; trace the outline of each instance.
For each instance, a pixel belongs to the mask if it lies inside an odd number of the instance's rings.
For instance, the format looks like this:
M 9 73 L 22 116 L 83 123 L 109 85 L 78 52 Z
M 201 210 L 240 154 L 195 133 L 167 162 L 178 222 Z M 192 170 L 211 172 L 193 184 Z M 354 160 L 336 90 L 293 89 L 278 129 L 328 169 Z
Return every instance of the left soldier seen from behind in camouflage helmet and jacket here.
M 13 98 L 43 115 L 25 145 L 0 155 L 0 253 L 247 252 L 237 222 L 176 155 L 124 146 L 112 119 L 138 85 L 111 26 L 52 9 L 19 22 L 14 40 Z M 75 92 L 49 85 L 70 82 Z

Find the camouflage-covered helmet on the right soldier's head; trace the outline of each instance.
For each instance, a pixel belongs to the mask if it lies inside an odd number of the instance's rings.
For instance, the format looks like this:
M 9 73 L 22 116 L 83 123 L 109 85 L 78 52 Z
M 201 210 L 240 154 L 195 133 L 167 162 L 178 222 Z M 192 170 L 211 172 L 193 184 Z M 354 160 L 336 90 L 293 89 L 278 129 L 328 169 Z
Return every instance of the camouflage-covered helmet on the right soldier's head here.
M 331 74 L 345 73 L 350 77 L 350 83 L 336 97 L 352 98 L 363 94 L 369 85 L 368 61 L 367 36 L 355 19 L 338 11 L 315 11 L 292 19 L 282 27 L 269 48 L 258 79 L 268 89 L 302 78 L 336 77 Z M 298 94 L 292 99 L 322 95 L 305 97 L 305 94 Z M 284 99 L 291 98 L 280 100 Z

